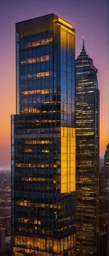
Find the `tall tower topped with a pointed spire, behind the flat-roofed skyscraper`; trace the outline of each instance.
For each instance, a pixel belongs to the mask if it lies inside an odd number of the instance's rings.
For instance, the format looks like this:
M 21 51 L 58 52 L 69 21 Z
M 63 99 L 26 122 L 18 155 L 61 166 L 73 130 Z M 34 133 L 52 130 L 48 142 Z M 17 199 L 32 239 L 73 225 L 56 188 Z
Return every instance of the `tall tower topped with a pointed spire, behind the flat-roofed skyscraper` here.
M 76 255 L 99 255 L 99 90 L 97 69 L 76 59 Z

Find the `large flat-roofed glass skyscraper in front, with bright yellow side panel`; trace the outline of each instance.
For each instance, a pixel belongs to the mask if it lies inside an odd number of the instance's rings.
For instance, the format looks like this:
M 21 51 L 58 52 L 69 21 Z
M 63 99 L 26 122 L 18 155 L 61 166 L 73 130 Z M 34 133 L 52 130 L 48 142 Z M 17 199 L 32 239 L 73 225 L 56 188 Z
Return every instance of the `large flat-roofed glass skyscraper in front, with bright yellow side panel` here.
M 54 14 L 16 24 L 12 115 L 15 255 L 75 255 L 75 30 Z

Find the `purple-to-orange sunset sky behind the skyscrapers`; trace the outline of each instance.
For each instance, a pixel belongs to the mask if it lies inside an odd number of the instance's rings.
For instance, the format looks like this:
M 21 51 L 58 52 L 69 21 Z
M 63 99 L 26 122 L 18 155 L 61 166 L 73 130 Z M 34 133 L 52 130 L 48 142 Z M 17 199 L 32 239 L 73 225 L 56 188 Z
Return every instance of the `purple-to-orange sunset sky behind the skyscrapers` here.
M 10 115 L 15 114 L 15 23 L 55 13 L 76 30 L 76 56 L 82 37 L 98 68 L 100 90 L 100 155 L 109 142 L 109 13 L 107 0 L 1 0 L 0 6 L 0 169 L 10 167 Z

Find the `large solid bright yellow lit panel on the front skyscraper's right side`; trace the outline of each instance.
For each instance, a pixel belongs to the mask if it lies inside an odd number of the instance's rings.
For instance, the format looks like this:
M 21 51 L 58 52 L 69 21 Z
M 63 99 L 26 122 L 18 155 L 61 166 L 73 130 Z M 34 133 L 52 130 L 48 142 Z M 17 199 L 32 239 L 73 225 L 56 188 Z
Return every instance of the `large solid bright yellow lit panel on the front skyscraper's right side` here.
M 75 165 L 75 129 L 61 127 L 61 193 L 75 191 Z

